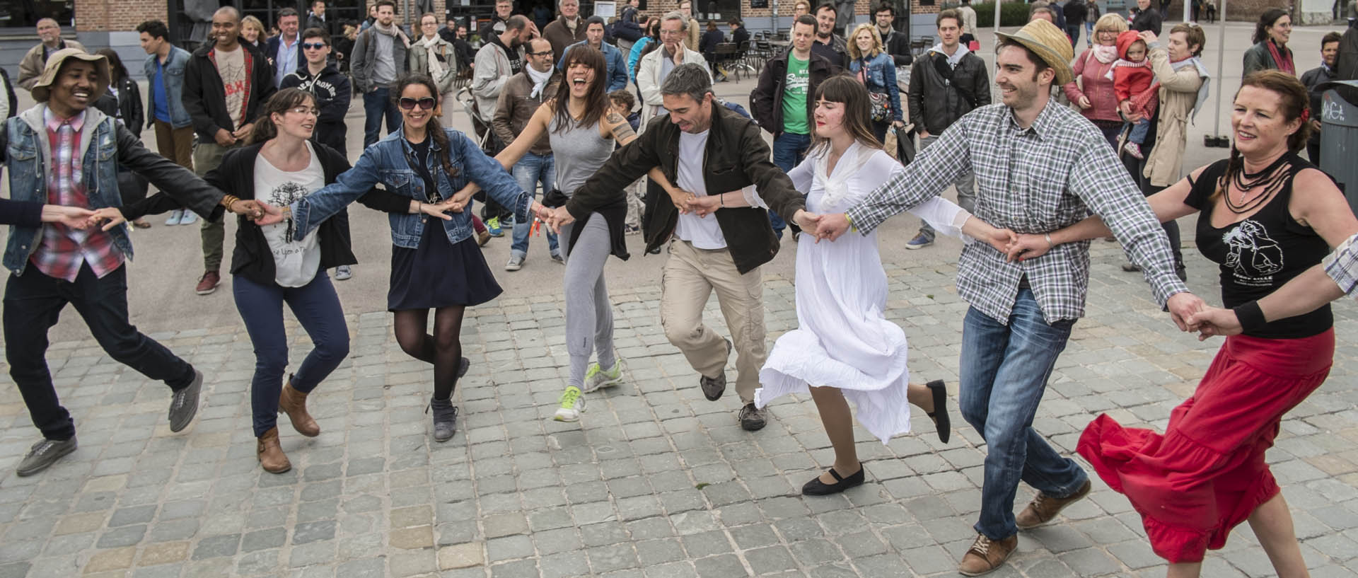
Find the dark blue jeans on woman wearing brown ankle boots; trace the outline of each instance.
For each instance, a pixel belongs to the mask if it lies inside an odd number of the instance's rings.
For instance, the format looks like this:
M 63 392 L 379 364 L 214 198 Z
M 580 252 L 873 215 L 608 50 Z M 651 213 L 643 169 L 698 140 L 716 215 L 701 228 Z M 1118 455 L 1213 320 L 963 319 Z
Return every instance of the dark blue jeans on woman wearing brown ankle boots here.
M 261 285 L 235 275 L 231 292 L 255 351 L 250 408 L 254 414 L 254 433 L 259 437 L 278 423 L 278 393 L 282 391 L 282 373 L 288 369 L 288 332 L 282 326 L 282 304 L 288 304 L 315 345 L 291 380 L 292 388 L 303 393 L 315 389 L 349 354 L 349 327 L 344 322 L 340 296 L 323 270 L 316 271 L 316 277 L 300 288 Z

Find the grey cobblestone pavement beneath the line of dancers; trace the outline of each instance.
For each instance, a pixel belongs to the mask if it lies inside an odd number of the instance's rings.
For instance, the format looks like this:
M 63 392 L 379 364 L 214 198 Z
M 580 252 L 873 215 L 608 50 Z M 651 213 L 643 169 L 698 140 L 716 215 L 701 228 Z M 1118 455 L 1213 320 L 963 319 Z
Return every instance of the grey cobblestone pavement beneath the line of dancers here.
M 906 328 L 917 379 L 945 379 L 956 395 L 966 304 L 955 261 L 915 254 L 888 255 L 887 315 Z M 1118 269 L 1116 246 L 1096 243 L 1092 261 L 1089 315 L 1035 423 L 1067 452 L 1101 411 L 1164 427 L 1219 343 L 1173 331 L 1141 277 Z M 1213 296 L 1214 271 L 1196 255 L 1190 265 L 1192 286 Z M 803 498 L 801 483 L 831 463 L 809 399 L 784 399 L 765 430 L 740 430 L 733 395 L 706 402 L 667 343 L 659 286 L 612 297 L 626 383 L 591 393 L 580 423 L 549 421 L 566 373 L 561 298 L 470 309 L 473 369 L 447 444 L 429 437 L 429 368 L 399 350 L 388 313 L 352 312 L 352 354 L 311 398 L 323 433 L 308 440 L 282 426 L 295 465 L 284 475 L 262 472 L 253 455 L 253 354 L 239 323 L 155 335 L 208 374 L 197 422 L 181 434 L 166 423 L 163 384 L 92 341 L 54 343 L 49 361 L 81 445 L 16 478 L 37 431 L 4 377 L 0 577 L 955 575 L 974 537 L 985 455 L 956 412 L 948 445 L 918 411 L 918 436 L 881 445 L 858 431 L 869 482 Z M 790 280 L 767 275 L 765 297 L 771 342 L 796 323 Z M 1348 345 L 1358 316 L 1342 304 L 1336 317 L 1343 345 L 1329 380 L 1293 410 L 1270 452 L 1313 575 L 1328 578 L 1358 575 Z M 725 331 L 714 301 L 708 319 Z M 289 331 L 300 361 L 310 342 L 296 323 Z M 1021 533 L 993 575 L 1164 575 L 1127 501 L 1095 483 L 1058 524 Z M 1023 488 L 1016 506 L 1029 495 Z M 1203 575 L 1270 573 L 1241 526 Z

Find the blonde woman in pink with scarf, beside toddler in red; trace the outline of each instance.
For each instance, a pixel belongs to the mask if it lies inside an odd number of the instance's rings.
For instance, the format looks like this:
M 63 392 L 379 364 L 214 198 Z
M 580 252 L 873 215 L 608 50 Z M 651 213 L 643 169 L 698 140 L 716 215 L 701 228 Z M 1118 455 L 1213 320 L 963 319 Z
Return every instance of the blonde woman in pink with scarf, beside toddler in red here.
M 1108 73 L 1118 61 L 1118 34 L 1126 30 L 1127 20 L 1120 15 L 1100 16 L 1090 34 L 1095 39 L 1093 46 L 1076 58 L 1070 66 L 1076 80 L 1065 85 L 1066 98 L 1080 107 L 1080 114 L 1099 128 L 1108 140 L 1108 147 L 1114 149 L 1118 148 L 1122 117 L 1118 115 L 1118 95 L 1114 94 Z

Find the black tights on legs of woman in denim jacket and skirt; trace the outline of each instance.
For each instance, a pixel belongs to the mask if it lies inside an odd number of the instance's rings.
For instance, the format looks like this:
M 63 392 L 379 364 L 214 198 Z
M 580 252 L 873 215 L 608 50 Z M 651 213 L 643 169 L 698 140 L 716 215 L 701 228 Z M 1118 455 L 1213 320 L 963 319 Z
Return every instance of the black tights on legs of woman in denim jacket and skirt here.
M 395 312 L 397 343 L 410 357 L 433 364 L 433 398 L 452 398 L 458 385 L 458 369 L 462 365 L 462 313 L 466 307 L 440 307 L 433 311 L 433 335 L 425 332 L 429 327 L 429 309 L 407 309 Z

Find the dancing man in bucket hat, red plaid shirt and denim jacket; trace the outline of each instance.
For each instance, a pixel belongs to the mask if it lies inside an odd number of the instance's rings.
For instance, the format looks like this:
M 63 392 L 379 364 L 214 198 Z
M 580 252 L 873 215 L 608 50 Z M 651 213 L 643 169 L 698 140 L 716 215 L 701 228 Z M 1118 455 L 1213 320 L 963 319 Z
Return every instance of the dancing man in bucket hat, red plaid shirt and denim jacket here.
M 15 201 L 105 209 L 113 217 L 109 208 L 122 204 L 117 176 L 122 166 L 204 218 L 220 218 L 219 208 L 262 214 L 254 201 L 224 197 L 187 168 L 147 151 L 136 134 L 90 106 L 107 88 L 105 57 L 62 49 L 48 58 L 33 87 L 38 104 L 4 121 L 0 130 L 0 163 L 10 168 Z M 198 412 L 202 373 L 128 323 L 122 263 L 130 258 L 132 242 L 121 220 L 103 228 L 61 223 L 11 227 L 4 250 L 4 267 L 11 273 L 4 289 L 5 360 L 43 437 L 19 463 L 20 476 L 37 474 L 76 449 L 75 423 L 57 400 L 45 360 L 48 328 L 68 303 L 109 357 L 170 385 L 171 431 L 185 429 Z

